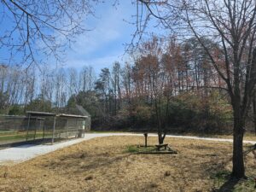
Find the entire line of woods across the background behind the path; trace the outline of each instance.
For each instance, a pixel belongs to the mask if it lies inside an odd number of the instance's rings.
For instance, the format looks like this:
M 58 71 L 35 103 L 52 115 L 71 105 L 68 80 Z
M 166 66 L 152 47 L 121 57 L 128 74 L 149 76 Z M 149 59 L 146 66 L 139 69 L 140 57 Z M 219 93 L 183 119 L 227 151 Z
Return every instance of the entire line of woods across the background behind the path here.
M 207 39 L 218 65 L 224 58 Z M 0 67 L 1 112 L 58 111 L 82 105 L 96 130 L 232 131 L 232 108 L 223 80 L 195 38 L 153 37 L 131 55 L 132 61 L 113 63 L 96 75 L 93 67 L 49 71 Z M 253 131 L 256 104 L 247 117 Z M 254 109 L 254 110 L 253 110 Z

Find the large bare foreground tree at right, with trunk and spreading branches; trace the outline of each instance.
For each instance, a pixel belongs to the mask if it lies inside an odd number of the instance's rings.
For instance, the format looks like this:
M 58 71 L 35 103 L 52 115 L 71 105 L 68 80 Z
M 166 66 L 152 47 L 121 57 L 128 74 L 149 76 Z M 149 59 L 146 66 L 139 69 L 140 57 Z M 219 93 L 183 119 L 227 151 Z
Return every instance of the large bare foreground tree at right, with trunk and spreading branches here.
M 183 37 L 194 36 L 205 49 L 226 84 L 234 111 L 232 176 L 245 177 L 242 140 L 256 83 L 256 2 L 137 0 L 137 3 L 146 7 L 148 17 L 154 16 L 172 31 L 178 29 Z M 216 46 L 207 47 L 202 41 L 205 37 L 212 38 Z

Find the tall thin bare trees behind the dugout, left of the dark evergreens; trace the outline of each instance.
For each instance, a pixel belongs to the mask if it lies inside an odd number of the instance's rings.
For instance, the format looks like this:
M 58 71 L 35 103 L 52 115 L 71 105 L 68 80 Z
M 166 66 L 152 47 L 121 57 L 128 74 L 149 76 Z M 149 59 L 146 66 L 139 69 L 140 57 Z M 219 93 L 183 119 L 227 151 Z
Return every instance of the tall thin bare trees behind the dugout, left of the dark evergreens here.
M 50 68 L 0 65 L 0 113 L 61 110 L 73 94 L 94 89 L 96 73 L 92 67 L 80 72 Z

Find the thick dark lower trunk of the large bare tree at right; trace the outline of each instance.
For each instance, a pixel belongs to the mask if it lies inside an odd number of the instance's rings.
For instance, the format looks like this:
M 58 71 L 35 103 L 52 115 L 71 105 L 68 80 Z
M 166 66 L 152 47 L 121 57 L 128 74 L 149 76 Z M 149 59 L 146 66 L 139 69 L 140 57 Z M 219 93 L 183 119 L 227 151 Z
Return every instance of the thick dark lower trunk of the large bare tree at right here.
M 244 134 L 244 119 L 241 116 L 240 106 L 234 108 L 234 131 L 233 131 L 233 170 L 232 176 L 236 178 L 245 177 L 245 166 L 243 160 L 242 140 Z

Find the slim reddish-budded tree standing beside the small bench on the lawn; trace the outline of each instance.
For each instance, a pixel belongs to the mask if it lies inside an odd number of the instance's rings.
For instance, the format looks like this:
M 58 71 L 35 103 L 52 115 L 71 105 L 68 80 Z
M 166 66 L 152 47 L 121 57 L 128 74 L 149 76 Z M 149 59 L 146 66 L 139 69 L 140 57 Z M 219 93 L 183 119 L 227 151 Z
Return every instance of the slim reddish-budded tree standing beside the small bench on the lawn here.
M 158 128 L 159 144 L 163 144 L 166 138 L 165 92 L 170 88 L 167 85 L 169 82 L 167 79 L 168 73 L 166 73 L 166 66 L 164 62 L 160 62 L 163 55 L 162 44 L 162 40 L 156 37 L 152 37 L 152 39 L 143 42 L 139 48 L 139 59 L 135 64 L 138 70 L 134 71 L 133 74 L 135 86 L 138 86 L 139 97 L 146 98 L 146 102 L 150 101 L 153 109 L 152 111 Z M 170 97 L 168 97 L 168 99 L 169 98 Z

